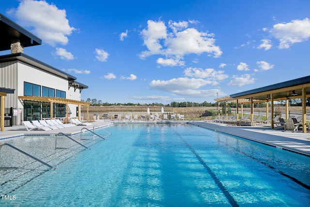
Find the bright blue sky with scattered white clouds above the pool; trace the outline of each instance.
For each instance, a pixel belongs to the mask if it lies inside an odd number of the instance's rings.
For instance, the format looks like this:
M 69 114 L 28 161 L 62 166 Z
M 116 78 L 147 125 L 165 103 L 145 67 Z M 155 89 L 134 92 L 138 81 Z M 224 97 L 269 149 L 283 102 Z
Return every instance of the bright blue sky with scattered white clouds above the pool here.
M 309 0 L 2 0 L 24 53 L 108 103 L 215 102 L 310 75 Z M 10 51 L 1 51 L 0 55 Z

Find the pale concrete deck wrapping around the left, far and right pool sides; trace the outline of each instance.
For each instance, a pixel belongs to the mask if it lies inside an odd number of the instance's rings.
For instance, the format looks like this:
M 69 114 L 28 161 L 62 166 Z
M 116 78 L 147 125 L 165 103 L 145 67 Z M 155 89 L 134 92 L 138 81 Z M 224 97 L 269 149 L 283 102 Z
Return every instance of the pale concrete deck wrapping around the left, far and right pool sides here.
M 164 121 L 163 123 L 165 123 Z M 176 121 L 178 123 L 187 123 L 189 121 Z M 156 122 L 142 122 L 142 121 L 116 121 L 115 123 L 156 123 Z M 158 122 L 162 123 L 162 122 Z M 190 124 L 217 130 L 223 133 L 232 134 L 235 136 L 243 137 L 260 143 L 276 146 L 283 149 L 288 149 L 300 154 L 310 156 L 310 133 L 302 133 L 301 131 L 292 132 L 284 131 L 283 129 L 272 129 L 270 125 L 257 125 L 257 126 L 232 126 L 227 124 L 218 124 L 205 121 L 190 121 Z M 113 124 L 111 120 L 95 120 L 89 126 L 75 126 L 53 130 L 31 130 L 27 131 L 24 126 L 5 127 L 5 131 L 0 132 L 0 144 L 5 143 L 7 139 L 23 135 L 49 135 L 58 134 L 62 132 L 67 135 L 77 134 L 81 132 L 82 128 L 93 129 L 93 127 L 108 127 Z

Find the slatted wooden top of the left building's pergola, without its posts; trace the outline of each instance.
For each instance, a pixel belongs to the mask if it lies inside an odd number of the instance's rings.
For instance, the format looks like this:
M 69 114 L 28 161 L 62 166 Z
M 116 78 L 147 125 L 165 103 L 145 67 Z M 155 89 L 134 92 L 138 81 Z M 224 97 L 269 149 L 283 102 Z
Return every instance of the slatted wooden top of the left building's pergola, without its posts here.
M 91 103 L 85 101 L 72 100 L 60 97 L 42 97 L 42 96 L 18 96 L 18 99 L 30 100 L 30 101 L 42 101 L 49 103 L 60 103 L 60 104 L 74 104 L 81 106 L 89 106 Z

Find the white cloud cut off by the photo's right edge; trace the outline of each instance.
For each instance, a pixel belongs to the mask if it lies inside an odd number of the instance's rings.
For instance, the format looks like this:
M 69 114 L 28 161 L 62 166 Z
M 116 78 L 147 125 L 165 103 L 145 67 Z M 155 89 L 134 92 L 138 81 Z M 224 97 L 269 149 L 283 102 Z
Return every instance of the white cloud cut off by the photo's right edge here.
M 310 19 L 296 19 L 289 23 L 279 23 L 270 30 L 271 34 L 279 39 L 280 49 L 290 48 L 294 43 L 308 40 L 310 37 Z

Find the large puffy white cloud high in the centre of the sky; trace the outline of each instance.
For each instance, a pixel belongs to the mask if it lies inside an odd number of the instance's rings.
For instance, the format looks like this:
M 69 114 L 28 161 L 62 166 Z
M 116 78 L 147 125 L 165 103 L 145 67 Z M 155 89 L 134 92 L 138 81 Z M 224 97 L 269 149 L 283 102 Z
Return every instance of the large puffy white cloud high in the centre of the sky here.
M 143 44 L 148 50 L 140 53 L 141 59 L 152 55 L 164 55 L 166 60 L 175 61 L 183 59 L 186 54 L 191 53 L 198 55 L 208 53 L 214 57 L 219 57 L 222 54 L 220 48 L 215 45 L 216 40 L 212 38 L 214 34 L 187 28 L 186 21 L 173 22 L 170 20 L 168 25 L 171 31 L 168 31 L 163 21 L 148 20 L 147 29 L 141 32 Z M 168 65 L 173 66 L 173 64 Z

